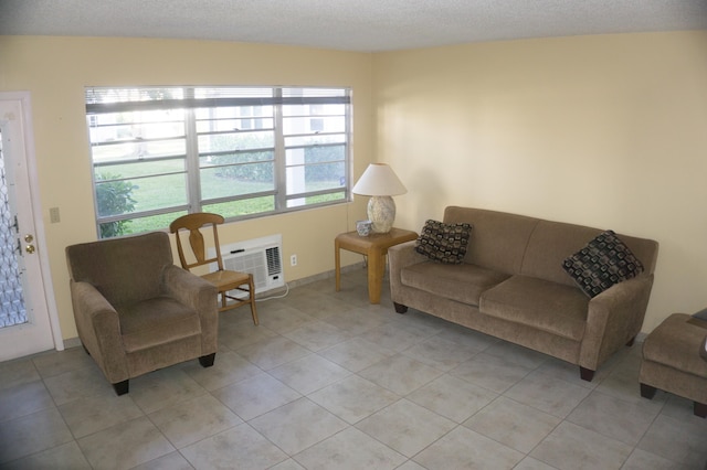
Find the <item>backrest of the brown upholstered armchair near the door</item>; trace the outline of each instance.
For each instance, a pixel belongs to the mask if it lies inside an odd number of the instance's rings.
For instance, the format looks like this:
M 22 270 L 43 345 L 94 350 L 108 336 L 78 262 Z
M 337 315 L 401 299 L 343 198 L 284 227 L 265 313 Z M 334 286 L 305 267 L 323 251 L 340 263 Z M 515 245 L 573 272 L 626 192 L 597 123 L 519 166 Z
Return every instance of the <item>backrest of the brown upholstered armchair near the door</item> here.
M 95 286 L 114 306 L 158 296 L 162 273 L 173 265 L 165 232 L 82 243 L 65 252 L 71 278 Z

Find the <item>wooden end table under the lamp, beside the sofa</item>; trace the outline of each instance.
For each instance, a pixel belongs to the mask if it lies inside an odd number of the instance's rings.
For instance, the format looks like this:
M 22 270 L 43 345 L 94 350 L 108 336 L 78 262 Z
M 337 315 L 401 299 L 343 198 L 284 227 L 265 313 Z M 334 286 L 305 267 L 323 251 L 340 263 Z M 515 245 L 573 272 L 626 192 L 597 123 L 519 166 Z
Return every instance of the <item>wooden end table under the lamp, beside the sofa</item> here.
M 334 241 L 336 260 L 336 290 L 341 289 L 341 258 L 339 249 L 347 249 L 368 256 L 368 299 L 380 303 L 381 284 L 386 271 L 388 248 L 418 238 L 418 234 L 402 228 L 391 228 L 387 234 L 371 233 L 360 236 L 356 231 L 337 235 Z

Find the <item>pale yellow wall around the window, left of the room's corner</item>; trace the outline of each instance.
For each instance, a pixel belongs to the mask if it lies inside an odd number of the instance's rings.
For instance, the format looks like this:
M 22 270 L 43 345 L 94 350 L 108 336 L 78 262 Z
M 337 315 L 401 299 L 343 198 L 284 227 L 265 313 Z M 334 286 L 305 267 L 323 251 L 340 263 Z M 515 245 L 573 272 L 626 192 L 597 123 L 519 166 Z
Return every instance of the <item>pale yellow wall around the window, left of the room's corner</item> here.
M 355 175 L 372 159 L 371 55 L 228 42 L 0 36 L 0 90 L 31 92 L 42 218 L 64 339 L 76 337 L 64 247 L 96 239 L 84 86 L 312 85 L 354 89 Z M 288 281 L 334 269 L 366 201 L 228 224 L 222 243 L 283 234 Z M 61 222 L 51 224 L 49 209 Z M 359 261 L 345 255 L 342 261 Z M 334 281 L 331 282 L 334 289 Z

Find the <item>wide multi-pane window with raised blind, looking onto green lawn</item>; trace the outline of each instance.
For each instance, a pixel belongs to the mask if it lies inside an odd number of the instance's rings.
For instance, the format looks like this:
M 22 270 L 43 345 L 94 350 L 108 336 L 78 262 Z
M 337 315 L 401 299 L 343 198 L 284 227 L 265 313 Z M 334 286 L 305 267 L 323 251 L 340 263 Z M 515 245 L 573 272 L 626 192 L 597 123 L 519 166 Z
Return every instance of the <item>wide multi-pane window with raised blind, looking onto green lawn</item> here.
M 86 88 L 101 238 L 349 200 L 350 90 Z

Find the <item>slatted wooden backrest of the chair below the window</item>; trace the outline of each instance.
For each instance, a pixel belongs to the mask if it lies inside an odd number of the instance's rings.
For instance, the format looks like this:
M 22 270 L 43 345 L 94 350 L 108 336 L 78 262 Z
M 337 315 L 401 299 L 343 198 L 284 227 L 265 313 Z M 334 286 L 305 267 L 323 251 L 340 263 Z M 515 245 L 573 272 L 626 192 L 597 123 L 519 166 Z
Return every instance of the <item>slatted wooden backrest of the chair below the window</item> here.
M 182 268 L 189 270 L 198 266 L 217 263 L 219 266 L 219 270 L 223 270 L 221 246 L 219 244 L 219 231 L 217 229 L 217 225 L 220 225 L 222 223 L 223 217 L 219 214 L 197 212 L 194 214 L 182 215 L 181 217 L 175 220 L 171 224 L 169 224 L 169 231 L 177 237 L 177 252 L 179 253 L 179 261 L 181 263 Z M 213 246 L 215 248 L 215 256 L 212 256 L 210 258 L 207 257 L 204 237 L 201 233 L 201 228 L 208 229 L 209 227 L 211 227 L 212 229 Z M 191 254 L 196 259 L 193 263 L 189 263 L 187 260 L 180 232 L 183 234 L 189 232 L 189 247 L 191 248 Z

